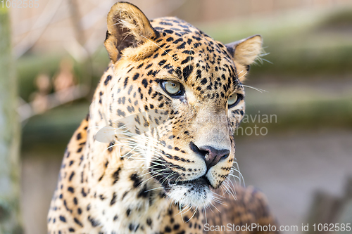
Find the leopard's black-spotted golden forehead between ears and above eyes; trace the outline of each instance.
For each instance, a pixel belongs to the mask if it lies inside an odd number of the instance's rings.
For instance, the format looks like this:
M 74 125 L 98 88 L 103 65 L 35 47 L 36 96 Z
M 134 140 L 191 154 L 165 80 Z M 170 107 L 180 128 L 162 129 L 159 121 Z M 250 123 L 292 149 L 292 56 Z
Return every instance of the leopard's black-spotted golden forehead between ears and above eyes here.
M 201 100 L 223 99 L 222 106 L 231 93 L 243 91 L 236 65 L 221 42 L 178 18 L 158 18 L 151 25 L 156 39 L 125 48 L 117 63 L 117 77 L 123 74 L 121 67 L 127 69 L 125 84 L 143 77 L 141 88 L 150 89 L 148 82 L 172 79 L 187 84 Z

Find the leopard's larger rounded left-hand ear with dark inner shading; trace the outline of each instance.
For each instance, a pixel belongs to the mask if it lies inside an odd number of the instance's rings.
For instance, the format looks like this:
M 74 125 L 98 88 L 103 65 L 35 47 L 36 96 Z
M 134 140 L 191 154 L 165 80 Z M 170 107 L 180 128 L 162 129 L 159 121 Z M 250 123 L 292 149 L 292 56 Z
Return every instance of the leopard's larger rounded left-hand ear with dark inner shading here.
M 104 45 L 113 63 L 120 58 L 124 48 L 155 37 L 156 31 L 137 6 L 121 1 L 111 7 Z

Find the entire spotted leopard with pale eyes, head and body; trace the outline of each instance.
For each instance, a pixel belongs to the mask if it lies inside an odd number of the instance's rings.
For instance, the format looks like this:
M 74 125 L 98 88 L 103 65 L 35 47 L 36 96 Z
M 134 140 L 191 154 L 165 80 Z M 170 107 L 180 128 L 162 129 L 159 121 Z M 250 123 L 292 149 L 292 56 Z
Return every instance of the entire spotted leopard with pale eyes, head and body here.
M 262 37 L 222 44 L 120 1 L 104 45 L 111 61 L 65 150 L 48 233 L 277 233 L 265 195 L 234 180 Z

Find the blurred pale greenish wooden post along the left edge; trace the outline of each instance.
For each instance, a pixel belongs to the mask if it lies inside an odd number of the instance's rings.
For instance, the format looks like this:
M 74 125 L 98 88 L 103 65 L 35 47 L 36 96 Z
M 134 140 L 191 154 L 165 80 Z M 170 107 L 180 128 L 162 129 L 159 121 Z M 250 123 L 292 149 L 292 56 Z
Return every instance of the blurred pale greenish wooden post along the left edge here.
M 0 234 L 23 233 L 17 98 L 8 8 L 0 6 Z

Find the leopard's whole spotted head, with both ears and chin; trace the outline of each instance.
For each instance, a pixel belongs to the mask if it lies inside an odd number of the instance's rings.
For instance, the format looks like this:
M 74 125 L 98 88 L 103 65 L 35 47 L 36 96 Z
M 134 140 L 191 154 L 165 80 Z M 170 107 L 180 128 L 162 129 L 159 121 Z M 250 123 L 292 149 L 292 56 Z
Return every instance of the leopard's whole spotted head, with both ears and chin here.
M 148 20 L 118 3 L 105 46 L 113 76 L 101 94 L 120 156 L 182 206 L 205 207 L 232 169 L 243 82 L 261 49 L 253 36 L 224 45 L 177 18 Z

